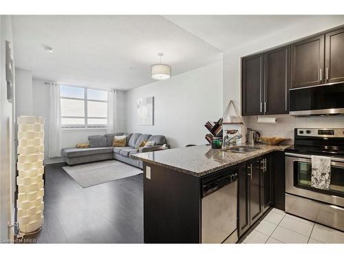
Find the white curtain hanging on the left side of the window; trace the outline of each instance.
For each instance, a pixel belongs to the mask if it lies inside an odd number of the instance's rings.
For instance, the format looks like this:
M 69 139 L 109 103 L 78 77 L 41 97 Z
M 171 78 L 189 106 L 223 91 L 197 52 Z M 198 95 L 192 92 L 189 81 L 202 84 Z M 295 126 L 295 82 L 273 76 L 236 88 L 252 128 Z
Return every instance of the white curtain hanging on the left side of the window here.
M 50 83 L 49 158 L 61 157 L 60 85 Z

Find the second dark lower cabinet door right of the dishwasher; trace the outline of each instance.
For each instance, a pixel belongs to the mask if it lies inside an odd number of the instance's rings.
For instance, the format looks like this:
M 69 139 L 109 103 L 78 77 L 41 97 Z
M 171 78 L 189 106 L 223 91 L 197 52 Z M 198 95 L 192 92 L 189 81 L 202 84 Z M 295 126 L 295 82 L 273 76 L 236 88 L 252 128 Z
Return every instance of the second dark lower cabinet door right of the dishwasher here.
M 263 214 L 262 180 L 259 160 L 252 160 L 248 166 L 250 176 L 250 224 Z

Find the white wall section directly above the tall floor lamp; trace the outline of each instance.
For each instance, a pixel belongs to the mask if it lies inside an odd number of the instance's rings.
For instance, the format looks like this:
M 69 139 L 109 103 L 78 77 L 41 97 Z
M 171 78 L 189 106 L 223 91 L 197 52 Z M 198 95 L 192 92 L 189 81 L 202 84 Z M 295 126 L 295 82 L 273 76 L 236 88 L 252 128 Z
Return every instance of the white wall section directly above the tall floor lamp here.
M 16 68 L 16 116 L 32 116 L 32 72 Z

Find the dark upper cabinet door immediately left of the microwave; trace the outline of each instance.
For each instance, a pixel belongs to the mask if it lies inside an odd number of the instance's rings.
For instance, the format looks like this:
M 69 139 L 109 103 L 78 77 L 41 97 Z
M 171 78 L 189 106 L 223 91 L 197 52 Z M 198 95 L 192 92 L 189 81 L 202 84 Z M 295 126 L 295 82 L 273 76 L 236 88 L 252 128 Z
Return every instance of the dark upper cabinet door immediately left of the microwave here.
M 289 113 L 290 46 L 264 54 L 264 114 Z

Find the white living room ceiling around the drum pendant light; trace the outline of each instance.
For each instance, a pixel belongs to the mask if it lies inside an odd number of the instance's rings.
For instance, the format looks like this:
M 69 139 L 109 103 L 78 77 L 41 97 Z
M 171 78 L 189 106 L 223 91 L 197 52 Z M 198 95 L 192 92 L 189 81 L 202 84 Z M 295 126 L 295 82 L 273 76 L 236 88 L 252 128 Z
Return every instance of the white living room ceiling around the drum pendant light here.
M 151 83 L 158 52 L 173 75 L 222 56 L 161 16 L 13 16 L 12 27 L 16 67 L 69 85 L 125 90 Z

